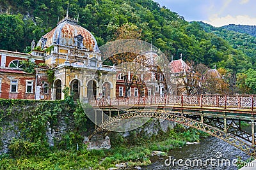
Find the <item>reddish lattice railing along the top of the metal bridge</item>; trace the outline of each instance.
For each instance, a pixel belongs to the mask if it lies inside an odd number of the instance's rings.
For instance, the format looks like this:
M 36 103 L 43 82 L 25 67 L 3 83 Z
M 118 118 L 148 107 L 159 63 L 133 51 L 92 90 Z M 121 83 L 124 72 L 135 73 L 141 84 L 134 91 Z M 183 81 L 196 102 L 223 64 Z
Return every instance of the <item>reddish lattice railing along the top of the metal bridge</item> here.
M 173 105 L 216 108 L 241 108 L 253 110 L 256 107 L 256 96 L 168 95 L 111 99 L 102 98 L 90 100 L 90 104 L 92 106 Z

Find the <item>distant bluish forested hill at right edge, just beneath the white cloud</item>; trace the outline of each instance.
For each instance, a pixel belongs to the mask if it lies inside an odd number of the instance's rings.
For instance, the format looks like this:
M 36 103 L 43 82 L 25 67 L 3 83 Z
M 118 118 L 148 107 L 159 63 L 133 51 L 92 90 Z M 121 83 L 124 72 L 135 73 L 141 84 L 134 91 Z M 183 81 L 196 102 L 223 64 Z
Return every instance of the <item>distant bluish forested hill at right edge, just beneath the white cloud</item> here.
M 251 36 L 256 37 L 256 25 L 235 25 L 235 24 L 229 24 L 223 26 L 224 29 L 230 30 L 230 31 L 236 31 L 240 33 L 249 34 Z

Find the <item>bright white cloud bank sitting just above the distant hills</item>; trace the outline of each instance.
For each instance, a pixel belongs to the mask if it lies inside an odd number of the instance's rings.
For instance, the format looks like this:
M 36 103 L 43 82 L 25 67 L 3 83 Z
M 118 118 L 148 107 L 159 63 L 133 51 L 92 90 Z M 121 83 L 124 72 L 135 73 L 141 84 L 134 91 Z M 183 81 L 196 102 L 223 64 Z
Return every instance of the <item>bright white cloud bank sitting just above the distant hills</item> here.
M 228 24 L 256 25 L 256 18 L 249 17 L 248 15 L 237 15 L 236 17 L 232 17 L 231 15 L 227 15 L 226 17 L 212 15 L 209 20 L 204 22 L 214 27 L 221 27 Z

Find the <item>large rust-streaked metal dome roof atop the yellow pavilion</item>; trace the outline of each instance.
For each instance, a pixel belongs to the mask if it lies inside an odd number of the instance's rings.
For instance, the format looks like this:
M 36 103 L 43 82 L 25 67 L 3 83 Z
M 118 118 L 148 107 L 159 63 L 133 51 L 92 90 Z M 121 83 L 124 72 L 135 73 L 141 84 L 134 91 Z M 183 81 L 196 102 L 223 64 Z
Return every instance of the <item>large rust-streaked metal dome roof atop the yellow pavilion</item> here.
M 68 17 L 65 17 L 61 22 L 58 22 L 57 27 L 42 36 L 40 41 L 38 41 L 37 46 L 42 46 L 42 44 L 44 45 L 44 48 L 53 44 L 77 46 L 77 38 L 81 39 L 82 46 L 80 47 L 86 48 L 90 52 L 99 52 L 99 47 L 93 34 L 80 25 L 77 25 L 77 20 Z

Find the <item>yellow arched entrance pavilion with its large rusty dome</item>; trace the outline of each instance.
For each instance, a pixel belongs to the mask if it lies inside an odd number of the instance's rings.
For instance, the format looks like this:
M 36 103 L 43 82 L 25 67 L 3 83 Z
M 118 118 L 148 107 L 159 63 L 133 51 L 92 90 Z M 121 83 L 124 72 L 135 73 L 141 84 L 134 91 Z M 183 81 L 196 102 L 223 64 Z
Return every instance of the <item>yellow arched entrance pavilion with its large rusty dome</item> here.
M 32 48 L 31 54 L 41 55 L 54 70 L 51 99 L 64 99 L 65 87 L 75 100 L 115 97 L 115 69 L 101 65 L 96 39 L 77 20 L 66 16 Z

